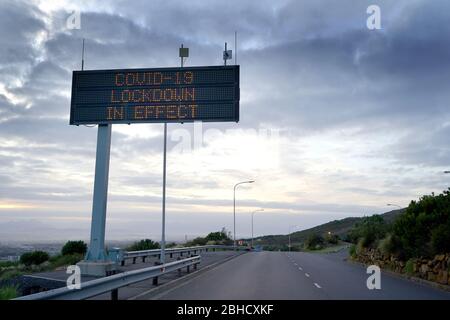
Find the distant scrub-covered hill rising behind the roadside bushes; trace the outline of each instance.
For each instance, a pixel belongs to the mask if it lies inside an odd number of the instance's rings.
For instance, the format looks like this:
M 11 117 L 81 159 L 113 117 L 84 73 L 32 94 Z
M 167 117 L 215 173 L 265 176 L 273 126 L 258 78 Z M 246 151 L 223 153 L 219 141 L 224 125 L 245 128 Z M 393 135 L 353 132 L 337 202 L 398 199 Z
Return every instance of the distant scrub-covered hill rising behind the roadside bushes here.
M 381 216 L 387 223 L 391 223 L 395 220 L 395 218 L 403 213 L 404 209 L 393 210 L 386 213 L 383 213 Z M 353 228 L 356 222 L 360 221 L 362 217 L 350 217 L 344 218 L 341 220 L 334 220 L 331 222 L 327 222 L 325 224 L 321 224 L 319 226 L 297 231 L 291 234 L 291 243 L 302 243 L 304 242 L 310 234 L 321 234 L 325 235 L 328 232 L 332 234 L 338 235 L 341 239 L 345 239 L 345 236 L 348 232 Z M 254 239 L 255 245 L 262 245 L 264 247 L 275 247 L 281 248 L 285 247 L 288 243 L 288 235 L 269 235 L 258 237 Z

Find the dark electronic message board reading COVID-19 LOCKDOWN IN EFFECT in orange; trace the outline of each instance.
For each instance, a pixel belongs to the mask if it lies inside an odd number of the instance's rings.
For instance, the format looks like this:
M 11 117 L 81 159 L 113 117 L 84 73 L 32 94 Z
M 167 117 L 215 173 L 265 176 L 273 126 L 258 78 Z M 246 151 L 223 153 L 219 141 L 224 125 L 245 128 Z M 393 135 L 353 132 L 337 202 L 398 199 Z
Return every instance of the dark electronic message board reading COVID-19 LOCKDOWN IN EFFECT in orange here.
M 70 124 L 239 121 L 239 66 L 74 71 Z

